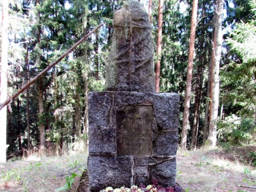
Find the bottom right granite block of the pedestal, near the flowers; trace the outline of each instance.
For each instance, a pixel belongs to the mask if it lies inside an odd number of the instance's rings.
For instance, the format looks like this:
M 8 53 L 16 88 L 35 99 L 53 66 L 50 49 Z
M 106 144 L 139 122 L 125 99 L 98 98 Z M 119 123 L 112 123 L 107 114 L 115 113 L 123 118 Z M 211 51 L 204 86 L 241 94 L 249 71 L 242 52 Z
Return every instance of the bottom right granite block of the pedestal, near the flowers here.
M 164 187 L 175 185 L 176 159 L 152 165 L 149 169 L 149 180 L 157 178 L 158 183 Z

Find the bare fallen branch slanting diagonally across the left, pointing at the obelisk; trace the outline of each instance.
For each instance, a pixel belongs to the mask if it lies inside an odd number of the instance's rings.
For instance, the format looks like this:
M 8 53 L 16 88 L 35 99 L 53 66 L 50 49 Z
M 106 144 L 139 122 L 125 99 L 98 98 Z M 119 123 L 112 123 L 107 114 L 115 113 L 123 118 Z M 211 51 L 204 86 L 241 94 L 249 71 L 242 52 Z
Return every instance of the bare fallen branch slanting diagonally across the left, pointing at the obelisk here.
M 63 58 L 65 58 L 70 52 L 72 52 L 79 44 L 81 44 L 85 39 L 87 39 L 90 35 L 92 35 L 96 30 L 98 30 L 101 26 L 103 25 L 100 24 L 97 26 L 95 29 L 93 29 L 90 33 L 87 35 L 84 35 L 83 38 L 81 38 L 76 44 L 73 45 L 70 49 L 67 50 L 63 55 L 61 55 L 55 62 L 49 64 L 48 67 L 46 67 L 41 73 L 39 73 L 37 76 L 35 76 L 31 81 L 27 82 L 23 87 L 20 88 L 16 93 L 14 93 L 9 99 L 7 99 L 5 102 L 3 102 L 0 105 L 0 110 L 8 105 L 10 102 L 12 102 L 13 99 L 15 99 L 17 96 L 20 95 L 24 90 L 26 90 L 28 87 L 30 87 L 35 81 L 37 81 L 41 76 L 43 76 L 47 71 L 49 71 L 52 67 L 54 67 L 58 62 L 60 62 Z

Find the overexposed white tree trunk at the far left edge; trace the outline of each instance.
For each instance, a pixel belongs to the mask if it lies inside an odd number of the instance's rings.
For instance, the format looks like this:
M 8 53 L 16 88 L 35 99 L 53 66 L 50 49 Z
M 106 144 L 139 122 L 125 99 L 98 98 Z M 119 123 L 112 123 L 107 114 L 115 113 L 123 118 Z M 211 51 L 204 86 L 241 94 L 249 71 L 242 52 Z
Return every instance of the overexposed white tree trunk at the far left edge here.
M 8 6 L 9 0 L 2 0 L 2 50 L 0 68 L 0 103 L 7 99 L 7 69 L 8 69 Z M 6 163 L 6 119 L 7 107 L 0 111 L 0 163 Z

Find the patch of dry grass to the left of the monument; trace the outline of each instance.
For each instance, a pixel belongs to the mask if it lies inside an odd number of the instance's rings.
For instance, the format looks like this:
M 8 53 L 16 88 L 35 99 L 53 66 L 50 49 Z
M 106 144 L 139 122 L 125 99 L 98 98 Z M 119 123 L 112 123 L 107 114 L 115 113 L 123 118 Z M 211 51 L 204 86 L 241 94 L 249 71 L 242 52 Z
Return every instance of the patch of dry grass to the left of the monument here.
M 71 173 L 81 175 L 87 167 L 86 152 L 69 156 L 38 157 L 30 155 L 26 159 L 0 164 L 0 190 L 6 192 L 54 192 L 64 186 L 65 177 Z M 76 191 L 79 177 L 73 183 Z

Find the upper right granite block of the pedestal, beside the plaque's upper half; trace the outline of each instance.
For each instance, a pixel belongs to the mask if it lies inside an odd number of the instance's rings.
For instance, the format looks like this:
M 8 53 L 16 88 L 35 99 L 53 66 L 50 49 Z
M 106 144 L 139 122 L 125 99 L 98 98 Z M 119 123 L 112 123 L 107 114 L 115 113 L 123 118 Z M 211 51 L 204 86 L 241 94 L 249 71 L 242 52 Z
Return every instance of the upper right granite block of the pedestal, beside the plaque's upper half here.
M 179 100 L 177 93 L 153 93 L 158 131 L 178 131 Z

